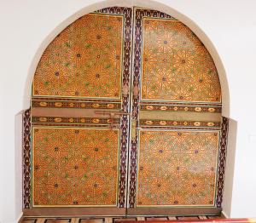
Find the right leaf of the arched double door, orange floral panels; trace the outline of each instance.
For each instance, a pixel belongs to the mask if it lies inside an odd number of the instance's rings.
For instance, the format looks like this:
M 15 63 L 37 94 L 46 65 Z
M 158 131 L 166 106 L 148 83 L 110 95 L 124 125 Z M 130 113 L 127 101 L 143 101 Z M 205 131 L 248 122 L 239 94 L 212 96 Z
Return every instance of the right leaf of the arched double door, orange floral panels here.
M 216 214 L 221 92 L 212 57 L 171 16 L 134 14 L 128 214 Z

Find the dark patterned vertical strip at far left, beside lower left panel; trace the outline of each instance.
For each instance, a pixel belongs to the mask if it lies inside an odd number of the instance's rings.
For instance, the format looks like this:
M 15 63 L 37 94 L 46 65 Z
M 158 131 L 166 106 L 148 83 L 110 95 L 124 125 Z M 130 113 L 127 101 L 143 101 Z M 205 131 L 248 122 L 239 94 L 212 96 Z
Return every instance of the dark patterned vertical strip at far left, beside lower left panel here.
M 22 114 L 23 208 L 31 207 L 31 110 Z

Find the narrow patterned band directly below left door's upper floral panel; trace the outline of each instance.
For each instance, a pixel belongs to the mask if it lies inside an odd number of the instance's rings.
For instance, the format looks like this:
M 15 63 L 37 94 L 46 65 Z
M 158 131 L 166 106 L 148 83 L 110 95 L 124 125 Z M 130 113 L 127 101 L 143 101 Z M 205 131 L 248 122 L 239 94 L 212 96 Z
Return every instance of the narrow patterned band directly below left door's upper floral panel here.
M 121 103 L 32 100 L 32 107 L 121 109 Z

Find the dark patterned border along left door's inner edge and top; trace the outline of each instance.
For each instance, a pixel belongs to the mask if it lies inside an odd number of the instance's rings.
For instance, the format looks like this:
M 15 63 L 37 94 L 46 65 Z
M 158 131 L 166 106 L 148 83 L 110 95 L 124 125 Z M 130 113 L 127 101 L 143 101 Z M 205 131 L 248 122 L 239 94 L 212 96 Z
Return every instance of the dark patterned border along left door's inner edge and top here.
M 122 83 L 122 112 L 130 111 L 130 78 L 131 78 L 131 42 L 132 42 L 132 9 L 123 7 L 112 7 L 100 9 L 98 13 L 107 14 L 123 14 L 124 15 L 124 64 L 123 64 L 123 83 Z M 128 137 L 129 137 L 129 117 L 123 116 L 121 119 L 121 135 L 120 135 L 120 170 L 119 170 L 119 208 L 124 208 L 126 203 L 126 178 L 127 178 L 127 153 L 128 153 Z

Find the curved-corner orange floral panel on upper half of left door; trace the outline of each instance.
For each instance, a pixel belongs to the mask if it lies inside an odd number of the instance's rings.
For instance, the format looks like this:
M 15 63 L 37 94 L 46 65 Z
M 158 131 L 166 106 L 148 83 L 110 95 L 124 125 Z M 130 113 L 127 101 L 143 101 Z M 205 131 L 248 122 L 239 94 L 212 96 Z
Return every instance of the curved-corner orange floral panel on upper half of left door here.
M 33 96 L 120 98 L 123 16 L 86 14 L 55 37 L 35 72 Z

